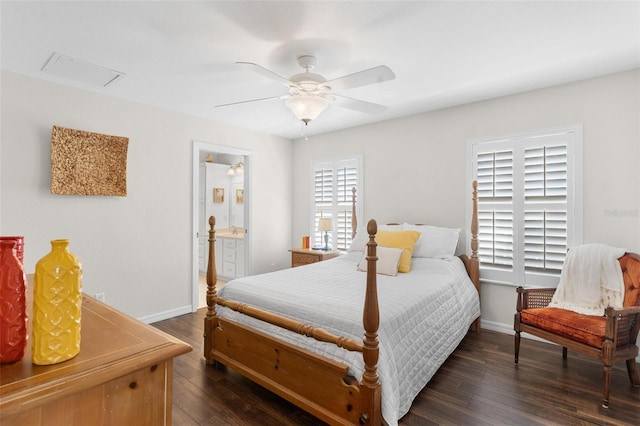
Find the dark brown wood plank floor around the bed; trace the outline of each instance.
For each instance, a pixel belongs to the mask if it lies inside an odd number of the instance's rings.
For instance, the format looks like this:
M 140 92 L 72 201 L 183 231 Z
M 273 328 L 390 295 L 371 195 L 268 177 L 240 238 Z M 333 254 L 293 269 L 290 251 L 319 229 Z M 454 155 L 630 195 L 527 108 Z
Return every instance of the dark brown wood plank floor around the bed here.
M 321 425 L 322 422 L 232 370 L 206 366 L 204 310 L 153 324 L 193 346 L 174 361 L 173 424 Z M 600 363 L 513 336 L 470 333 L 413 402 L 401 425 L 640 425 L 640 388 L 624 363 L 613 374 L 611 407 L 601 408 Z

